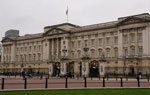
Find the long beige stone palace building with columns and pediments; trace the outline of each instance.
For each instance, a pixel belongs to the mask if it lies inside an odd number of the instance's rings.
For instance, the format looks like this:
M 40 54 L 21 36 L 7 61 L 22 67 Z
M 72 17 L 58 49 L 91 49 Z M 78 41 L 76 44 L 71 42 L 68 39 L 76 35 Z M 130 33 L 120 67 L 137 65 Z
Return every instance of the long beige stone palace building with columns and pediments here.
M 18 33 L 2 39 L 0 73 L 150 74 L 149 13 L 87 26 L 46 26 L 39 34 Z

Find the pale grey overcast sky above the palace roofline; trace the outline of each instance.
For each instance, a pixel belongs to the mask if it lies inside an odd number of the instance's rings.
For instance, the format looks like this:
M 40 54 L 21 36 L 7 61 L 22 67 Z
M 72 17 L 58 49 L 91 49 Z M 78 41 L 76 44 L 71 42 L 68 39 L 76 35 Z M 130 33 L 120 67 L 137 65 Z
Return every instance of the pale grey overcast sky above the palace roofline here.
M 9 29 L 24 35 L 65 23 L 67 5 L 69 23 L 81 26 L 150 13 L 150 0 L 0 0 L 0 40 Z

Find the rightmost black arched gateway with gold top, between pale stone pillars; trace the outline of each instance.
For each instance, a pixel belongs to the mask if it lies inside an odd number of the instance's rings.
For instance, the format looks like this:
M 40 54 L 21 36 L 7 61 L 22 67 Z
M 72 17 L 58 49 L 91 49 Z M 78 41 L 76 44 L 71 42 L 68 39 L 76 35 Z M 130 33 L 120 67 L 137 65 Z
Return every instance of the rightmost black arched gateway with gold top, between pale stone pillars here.
M 90 77 L 99 77 L 99 64 L 98 61 L 91 61 L 89 63 L 89 76 Z

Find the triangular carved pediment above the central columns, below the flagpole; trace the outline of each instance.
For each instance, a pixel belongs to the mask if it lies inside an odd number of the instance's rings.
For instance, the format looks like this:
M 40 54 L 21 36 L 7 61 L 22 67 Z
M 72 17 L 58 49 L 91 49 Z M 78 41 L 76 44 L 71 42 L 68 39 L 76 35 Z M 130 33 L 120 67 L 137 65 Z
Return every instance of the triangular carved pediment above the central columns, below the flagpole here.
M 57 34 L 63 34 L 68 33 L 68 31 L 60 29 L 60 28 L 52 28 L 45 32 L 43 35 L 57 35 Z

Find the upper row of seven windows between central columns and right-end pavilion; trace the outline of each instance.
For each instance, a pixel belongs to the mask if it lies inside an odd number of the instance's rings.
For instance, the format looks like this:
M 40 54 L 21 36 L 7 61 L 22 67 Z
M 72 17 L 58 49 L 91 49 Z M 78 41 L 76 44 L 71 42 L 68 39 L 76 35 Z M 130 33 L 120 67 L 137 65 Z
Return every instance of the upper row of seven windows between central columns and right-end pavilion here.
M 99 38 L 98 39 L 98 45 L 99 46 L 102 46 L 103 45 L 103 38 Z M 106 45 L 110 45 L 111 44 L 111 38 L 110 37 L 106 37 Z M 91 39 L 91 46 L 94 47 L 95 44 L 96 44 L 96 40 L 95 39 Z M 117 45 L 118 44 L 118 37 L 114 37 L 114 41 L 113 41 L 114 45 Z M 77 42 L 77 46 L 78 48 L 81 47 L 81 41 L 78 41 Z M 84 46 L 87 47 L 88 46 L 88 40 L 84 40 Z M 72 48 L 75 47 L 75 41 L 72 41 Z

